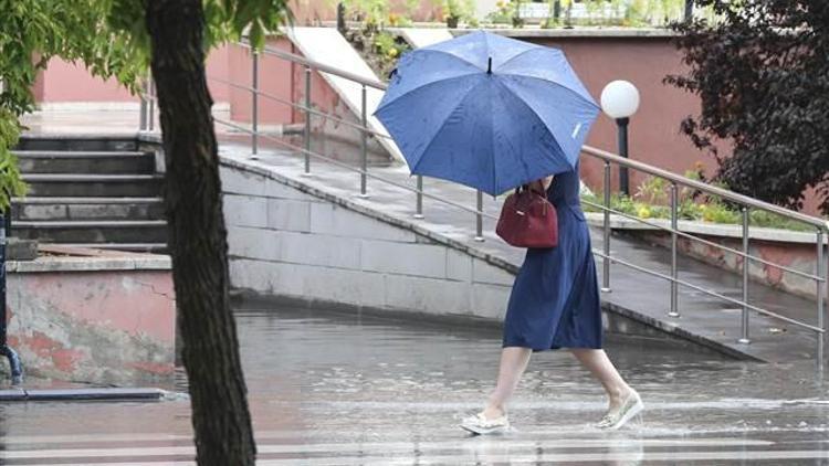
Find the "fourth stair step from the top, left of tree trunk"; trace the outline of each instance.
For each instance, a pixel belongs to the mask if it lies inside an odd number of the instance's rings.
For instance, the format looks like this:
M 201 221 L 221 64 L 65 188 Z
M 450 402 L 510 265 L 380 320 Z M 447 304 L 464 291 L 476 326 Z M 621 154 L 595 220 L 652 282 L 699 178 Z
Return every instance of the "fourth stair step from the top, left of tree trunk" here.
M 12 221 L 161 220 L 161 198 L 24 198 L 12 200 Z

